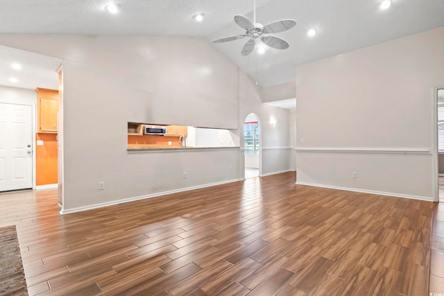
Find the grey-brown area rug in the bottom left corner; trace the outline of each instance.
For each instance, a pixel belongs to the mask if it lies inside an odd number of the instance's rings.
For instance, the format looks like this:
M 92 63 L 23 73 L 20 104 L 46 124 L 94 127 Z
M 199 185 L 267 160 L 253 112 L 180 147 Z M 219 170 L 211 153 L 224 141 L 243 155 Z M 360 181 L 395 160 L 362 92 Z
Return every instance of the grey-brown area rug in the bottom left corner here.
M 15 225 L 0 227 L 0 295 L 28 295 Z

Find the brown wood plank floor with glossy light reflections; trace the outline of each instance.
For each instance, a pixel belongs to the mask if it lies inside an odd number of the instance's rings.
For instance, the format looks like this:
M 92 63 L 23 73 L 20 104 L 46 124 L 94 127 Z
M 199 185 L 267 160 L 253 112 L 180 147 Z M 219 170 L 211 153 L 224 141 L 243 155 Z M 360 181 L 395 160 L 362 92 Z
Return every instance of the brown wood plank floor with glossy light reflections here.
M 428 295 L 434 203 L 295 180 L 65 216 L 55 190 L 3 193 L 0 226 L 17 225 L 30 295 Z

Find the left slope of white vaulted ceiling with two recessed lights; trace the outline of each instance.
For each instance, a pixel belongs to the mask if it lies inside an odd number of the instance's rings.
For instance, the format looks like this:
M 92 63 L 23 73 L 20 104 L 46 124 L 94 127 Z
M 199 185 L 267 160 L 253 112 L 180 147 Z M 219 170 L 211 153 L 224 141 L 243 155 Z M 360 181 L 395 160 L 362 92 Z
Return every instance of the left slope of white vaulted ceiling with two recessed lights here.
M 0 33 L 152 35 L 205 37 L 234 15 L 253 10 L 253 0 L 13 0 L 1 1 Z M 270 0 L 256 0 L 257 7 Z M 119 3 L 110 15 L 104 7 Z M 196 13 L 205 21 L 196 23 Z

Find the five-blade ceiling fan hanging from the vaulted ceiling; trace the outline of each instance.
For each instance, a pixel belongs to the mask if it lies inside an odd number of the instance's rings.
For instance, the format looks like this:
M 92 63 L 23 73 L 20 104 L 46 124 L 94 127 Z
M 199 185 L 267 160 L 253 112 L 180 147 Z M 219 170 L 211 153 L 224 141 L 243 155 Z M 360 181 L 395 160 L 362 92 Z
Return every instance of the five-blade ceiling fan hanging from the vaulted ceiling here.
M 273 47 L 273 49 L 288 49 L 290 44 L 287 41 L 283 40 L 280 37 L 268 34 L 284 32 L 293 28 L 293 26 L 296 26 L 296 21 L 294 19 L 280 19 L 279 21 L 273 21 L 270 24 L 266 24 L 265 26 L 257 23 L 256 1 L 254 1 L 253 7 L 253 21 L 250 21 L 248 17 L 244 17 L 244 15 L 234 15 L 234 21 L 238 26 L 246 30 L 245 34 L 223 37 L 212 40 L 212 42 L 229 42 L 249 37 L 250 40 L 248 40 L 246 44 L 244 44 L 244 47 L 242 47 L 242 56 L 249 55 L 255 49 L 257 38 L 260 38 L 260 40 L 262 40 L 264 44 Z

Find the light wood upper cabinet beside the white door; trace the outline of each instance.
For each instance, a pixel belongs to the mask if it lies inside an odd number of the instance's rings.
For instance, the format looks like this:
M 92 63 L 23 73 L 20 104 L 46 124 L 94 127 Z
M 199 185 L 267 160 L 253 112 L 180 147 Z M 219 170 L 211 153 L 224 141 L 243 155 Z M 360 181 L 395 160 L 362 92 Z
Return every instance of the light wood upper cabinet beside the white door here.
M 57 133 L 58 90 L 37 87 L 37 132 Z

